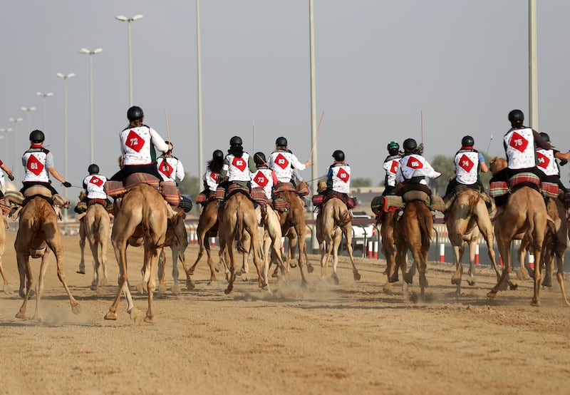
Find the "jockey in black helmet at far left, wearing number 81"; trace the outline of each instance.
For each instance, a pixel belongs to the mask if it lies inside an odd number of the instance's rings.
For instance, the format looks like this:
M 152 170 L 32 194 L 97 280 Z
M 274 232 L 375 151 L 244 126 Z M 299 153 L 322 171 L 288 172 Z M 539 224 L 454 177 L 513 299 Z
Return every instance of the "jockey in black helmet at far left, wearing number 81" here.
M 64 180 L 53 165 L 53 154 L 43 148 L 43 140 L 45 139 L 46 136 L 41 130 L 32 130 L 30 133 L 30 148 L 22 155 L 25 174 L 24 180 L 22 180 L 24 187 L 21 188 L 21 193 L 33 185 L 42 185 L 51 191 L 51 195 L 57 195 L 58 192 L 51 186 L 50 174 L 64 187 L 71 187 L 71 183 Z

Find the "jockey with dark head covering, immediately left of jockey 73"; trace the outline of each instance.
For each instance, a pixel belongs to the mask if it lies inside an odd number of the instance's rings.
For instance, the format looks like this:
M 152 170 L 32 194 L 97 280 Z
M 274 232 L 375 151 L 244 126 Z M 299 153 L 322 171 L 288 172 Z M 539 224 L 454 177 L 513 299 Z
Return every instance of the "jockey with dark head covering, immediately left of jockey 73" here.
M 229 140 L 229 150 L 224 158 L 218 183 L 227 186 L 236 183 L 251 189 L 252 173 L 256 170 L 253 158 L 242 147 L 242 138 L 235 135 Z

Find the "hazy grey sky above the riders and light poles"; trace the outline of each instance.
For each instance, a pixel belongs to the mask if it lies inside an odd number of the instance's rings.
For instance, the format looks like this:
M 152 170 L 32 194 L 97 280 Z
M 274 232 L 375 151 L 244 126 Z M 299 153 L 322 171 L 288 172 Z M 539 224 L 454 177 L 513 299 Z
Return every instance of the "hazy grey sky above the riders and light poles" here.
M 570 148 L 564 114 L 570 86 L 570 1 L 537 1 L 539 130 Z M 353 178 L 383 180 L 386 145 L 422 140 L 425 156 L 452 155 L 463 135 L 503 155 L 507 113 L 528 113 L 528 1 L 314 0 L 318 174 L 342 149 Z M 0 158 L 20 166 L 30 128 L 43 129 L 63 175 L 63 79 L 68 79 L 68 180 L 81 185 L 89 163 L 89 56 L 93 56 L 95 163 L 113 175 L 128 109 L 128 24 L 133 96 L 145 123 L 198 175 L 195 1 L 4 0 L 0 6 Z M 301 161 L 311 151 L 308 0 L 202 0 L 204 161 L 239 135 L 250 153 L 269 154 L 280 135 Z M 253 128 L 253 125 L 254 128 Z M 4 147 L 4 148 L 1 148 Z M 567 170 L 563 172 L 568 184 Z M 304 170 L 307 180 L 311 170 Z M 58 184 L 58 183 L 57 183 Z M 61 190 L 63 187 L 56 185 Z M 75 190 L 69 193 L 76 194 Z

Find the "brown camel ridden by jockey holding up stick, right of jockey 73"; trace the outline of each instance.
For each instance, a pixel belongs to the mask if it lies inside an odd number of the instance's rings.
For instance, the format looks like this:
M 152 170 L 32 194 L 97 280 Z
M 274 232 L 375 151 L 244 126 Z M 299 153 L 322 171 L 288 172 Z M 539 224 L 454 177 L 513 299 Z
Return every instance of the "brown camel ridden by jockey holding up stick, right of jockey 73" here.
M 301 282 L 306 284 L 305 275 L 303 272 L 303 258 L 306 258 L 306 221 L 305 221 L 305 207 L 301 202 L 299 195 L 293 192 L 279 193 L 281 198 L 284 198 L 289 203 L 289 209 L 285 212 L 279 212 L 279 223 L 281 224 L 281 234 L 289 239 L 289 252 L 287 262 L 290 262 L 291 267 L 295 267 L 291 261 L 295 259 L 296 247 L 299 245 L 299 271 L 301 272 Z M 292 229 L 291 229 L 292 228 Z M 291 260 L 289 260 L 289 257 Z M 307 271 L 313 272 L 313 267 L 306 261 Z

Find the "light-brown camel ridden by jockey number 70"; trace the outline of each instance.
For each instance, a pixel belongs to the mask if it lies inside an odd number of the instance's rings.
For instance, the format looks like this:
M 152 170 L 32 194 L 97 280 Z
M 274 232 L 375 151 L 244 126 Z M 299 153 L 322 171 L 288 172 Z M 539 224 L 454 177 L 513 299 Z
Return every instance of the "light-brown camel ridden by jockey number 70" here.
M 326 183 L 318 183 L 318 191 L 326 189 Z M 333 275 L 332 278 L 338 284 L 336 265 L 338 264 L 338 247 L 341 245 L 342 237 L 346 239 L 346 251 L 351 260 L 353 277 L 357 281 L 361 279 L 360 273 L 354 265 L 352 255 L 352 215 L 348 211 L 346 204 L 338 198 L 330 198 L 318 208 L 316 216 L 316 238 L 318 248 L 321 250 L 321 278 L 326 276 L 328 260 L 333 254 Z

